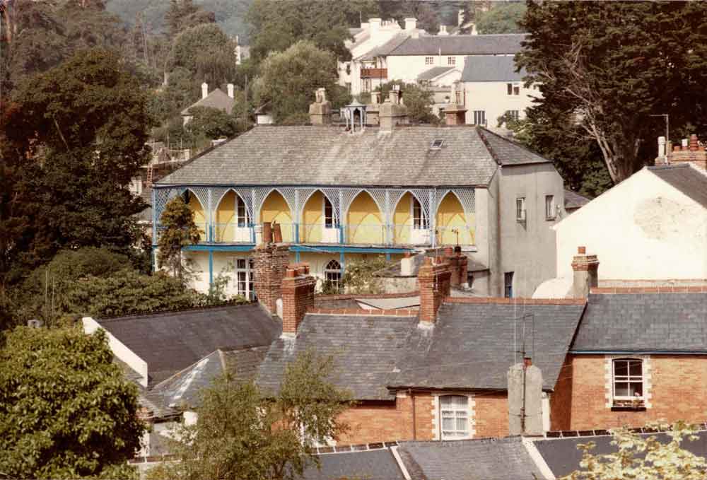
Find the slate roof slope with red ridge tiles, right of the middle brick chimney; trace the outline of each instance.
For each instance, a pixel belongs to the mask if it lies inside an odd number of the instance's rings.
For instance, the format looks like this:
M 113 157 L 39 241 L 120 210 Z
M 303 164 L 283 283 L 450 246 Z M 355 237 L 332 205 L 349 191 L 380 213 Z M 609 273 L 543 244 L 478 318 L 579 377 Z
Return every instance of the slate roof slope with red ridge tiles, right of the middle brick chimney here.
M 522 341 L 522 320 L 516 327 L 513 319 L 532 315 L 527 351 L 542 370 L 544 390 L 553 390 L 583 310 L 580 304 L 445 303 L 429 339 L 408 350 L 390 386 L 506 390 L 514 346 L 520 350 Z

